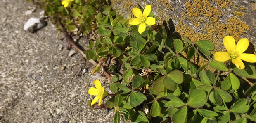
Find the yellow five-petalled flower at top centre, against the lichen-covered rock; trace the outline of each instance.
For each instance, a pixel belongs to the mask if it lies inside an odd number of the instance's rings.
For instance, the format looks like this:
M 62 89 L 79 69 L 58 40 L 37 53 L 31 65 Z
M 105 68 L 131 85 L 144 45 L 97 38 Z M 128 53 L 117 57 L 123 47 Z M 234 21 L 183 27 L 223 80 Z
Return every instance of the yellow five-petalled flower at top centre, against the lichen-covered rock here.
M 146 23 L 147 25 L 154 25 L 156 24 L 156 19 L 153 17 L 147 17 L 151 11 L 151 5 L 146 5 L 143 14 L 139 8 L 133 8 L 132 13 L 136 18 L 131 18 L 129 20 L 130 25 L 139 25 L 139 32 L 142 34 L 146 30 Z

